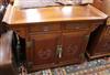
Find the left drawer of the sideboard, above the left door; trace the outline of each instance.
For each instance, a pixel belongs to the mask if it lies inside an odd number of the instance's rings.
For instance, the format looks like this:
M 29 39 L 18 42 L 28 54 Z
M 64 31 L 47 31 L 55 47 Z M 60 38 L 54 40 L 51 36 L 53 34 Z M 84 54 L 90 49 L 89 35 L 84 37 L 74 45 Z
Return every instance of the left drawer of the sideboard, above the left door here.
M 58 31 L 61 30 L 61 26 L 58 23 L 33 24 L 29 29 L 30 32 L 50 32 L 50 31 Z

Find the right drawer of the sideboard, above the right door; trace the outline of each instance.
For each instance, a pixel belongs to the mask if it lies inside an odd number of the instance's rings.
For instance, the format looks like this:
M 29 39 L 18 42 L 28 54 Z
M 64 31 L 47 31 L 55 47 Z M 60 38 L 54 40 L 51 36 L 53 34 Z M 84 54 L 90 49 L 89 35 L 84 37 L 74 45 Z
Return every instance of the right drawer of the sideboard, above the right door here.
M 64 30 L 89 30 L 90 25 L 87 23 L 65 23 Z

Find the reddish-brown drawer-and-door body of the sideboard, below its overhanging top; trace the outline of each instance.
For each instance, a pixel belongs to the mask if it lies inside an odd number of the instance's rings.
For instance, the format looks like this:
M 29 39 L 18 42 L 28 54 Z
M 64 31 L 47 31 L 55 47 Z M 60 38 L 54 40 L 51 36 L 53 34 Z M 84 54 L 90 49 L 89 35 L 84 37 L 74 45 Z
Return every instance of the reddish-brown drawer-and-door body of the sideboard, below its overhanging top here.
M 74 22 L 69 25 L 63 26 L 63 24 L 64 22 L 56 22 L 28 26 L 28 44 L 31 45 L 28 46 L 26 61 L 31 69 L 56 67 L 85 61 L 84 54 L 90 32 L 86 29 L 78 29 L 79 25 L 72 29 L 66 28 L 76 24 Z M 80 23 L 77 22 L 77 24 Z M 36 30 L 37 28 L 38 30 Z M 89 30 L 90 26 L 87 29 Z

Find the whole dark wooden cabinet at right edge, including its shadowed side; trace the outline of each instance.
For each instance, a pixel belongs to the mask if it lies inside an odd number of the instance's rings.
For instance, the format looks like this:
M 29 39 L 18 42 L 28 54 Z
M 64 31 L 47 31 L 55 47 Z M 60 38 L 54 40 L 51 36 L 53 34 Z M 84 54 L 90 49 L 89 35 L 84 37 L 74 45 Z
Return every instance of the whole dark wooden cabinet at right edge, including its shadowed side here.
M 94 42 L 91 42 L 88 49 L 87 54 L 90 60 L 110 55 L 110 26 L 105 25 L 103 29 L 99 29 L 99 31 L 101 33 L 92 39 Z M 96 33 L 99 32 L 96 31 Z

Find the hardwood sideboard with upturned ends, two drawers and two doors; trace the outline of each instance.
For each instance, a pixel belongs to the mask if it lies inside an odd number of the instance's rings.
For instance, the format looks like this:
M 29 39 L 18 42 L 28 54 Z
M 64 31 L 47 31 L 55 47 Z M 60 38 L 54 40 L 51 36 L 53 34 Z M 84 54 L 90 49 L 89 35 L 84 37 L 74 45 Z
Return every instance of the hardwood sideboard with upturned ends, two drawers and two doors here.
M 36 9 L 9 6 L 3 22 L 25 39 L 31 72 L 84 62 L 90 33 L 106 19 L 90 4 Z

